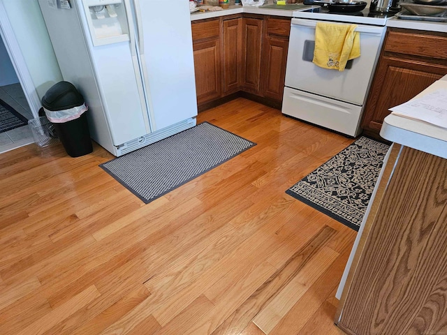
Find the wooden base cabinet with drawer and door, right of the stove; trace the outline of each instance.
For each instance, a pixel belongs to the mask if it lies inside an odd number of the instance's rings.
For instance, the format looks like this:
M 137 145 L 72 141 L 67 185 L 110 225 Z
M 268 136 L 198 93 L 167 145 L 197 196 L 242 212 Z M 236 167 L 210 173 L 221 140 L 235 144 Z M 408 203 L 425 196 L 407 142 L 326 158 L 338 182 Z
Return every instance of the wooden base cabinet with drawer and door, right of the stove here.
M 388 28 L 362 128 L 379 138 L 390 107 L 409 101 L 447 74 L 447 34 Z

